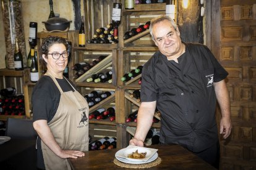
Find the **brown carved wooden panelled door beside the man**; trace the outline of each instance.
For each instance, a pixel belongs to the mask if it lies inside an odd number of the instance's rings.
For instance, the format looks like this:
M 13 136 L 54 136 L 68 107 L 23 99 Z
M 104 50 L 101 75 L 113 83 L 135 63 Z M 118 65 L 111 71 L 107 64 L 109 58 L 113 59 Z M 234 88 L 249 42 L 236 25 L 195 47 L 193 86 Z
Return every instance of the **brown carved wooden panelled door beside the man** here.
M 226 68 L 233 132 L 221 169 L 256 169 L 256 1 L 211 1 L 211 51 Z M 218 120 L 220 112 L 217 111 Z

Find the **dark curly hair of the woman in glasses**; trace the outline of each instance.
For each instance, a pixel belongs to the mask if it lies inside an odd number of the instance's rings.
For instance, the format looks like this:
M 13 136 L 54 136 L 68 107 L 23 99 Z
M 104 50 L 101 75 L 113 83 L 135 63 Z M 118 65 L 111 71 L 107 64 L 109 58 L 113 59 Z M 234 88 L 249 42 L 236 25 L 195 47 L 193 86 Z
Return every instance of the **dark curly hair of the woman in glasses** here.
M 61 38 L 59 36 L 48 36 L 47 38 L 45 38 L 41 44 L 40 47 L 40 62 L 44 63 L 46 65 L 45 60 L 43 59 L 42 55 L 45 54 L 45 58 L 48 59 L 48 53 L 49 53 L 49 48 L 51 46 L 53 46 L 54 44 L 64 44 L 64 46 L 67 49 L 67 41 L 64 38 Z

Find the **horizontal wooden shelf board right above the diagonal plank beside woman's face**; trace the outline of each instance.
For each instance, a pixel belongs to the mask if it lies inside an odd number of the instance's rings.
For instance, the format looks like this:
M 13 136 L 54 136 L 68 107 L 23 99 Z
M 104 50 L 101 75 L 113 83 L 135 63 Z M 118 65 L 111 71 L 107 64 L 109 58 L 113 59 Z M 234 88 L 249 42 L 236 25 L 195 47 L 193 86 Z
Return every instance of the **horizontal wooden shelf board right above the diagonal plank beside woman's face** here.
M 85 44 L 85 47 L 72 47 L 77 50 L 100 50 L 106 51 L 111 49 L 117 49 L 118 44 Z

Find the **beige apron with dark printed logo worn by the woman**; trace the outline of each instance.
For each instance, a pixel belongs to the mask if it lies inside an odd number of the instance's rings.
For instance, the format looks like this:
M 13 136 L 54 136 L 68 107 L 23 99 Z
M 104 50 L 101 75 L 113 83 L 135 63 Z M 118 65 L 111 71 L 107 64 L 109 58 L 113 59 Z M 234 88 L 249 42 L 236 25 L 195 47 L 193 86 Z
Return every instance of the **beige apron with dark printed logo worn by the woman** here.
M 53 79 L 61 92 L 59 107 L 53 119 L 48 123 L 56 142 L 62 150 L 88 151 L 89 107 L 87 101 L 69 81 L 67 82 L 73 87 L 74 92 L 63 92 L 58 81 L 49 73 L 46 73 L 46 75 Z M 43 141 L 41 141 L 41 148 L 46 169 L 71 169 L 68 160 L 59 158 Z

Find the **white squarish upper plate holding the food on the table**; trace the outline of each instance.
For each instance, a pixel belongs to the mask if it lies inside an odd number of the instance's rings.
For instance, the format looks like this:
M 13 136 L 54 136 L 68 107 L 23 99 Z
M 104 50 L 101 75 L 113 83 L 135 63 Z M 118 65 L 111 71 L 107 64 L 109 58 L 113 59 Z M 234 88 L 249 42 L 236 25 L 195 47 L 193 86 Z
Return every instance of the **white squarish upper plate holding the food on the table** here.
M 135 152 L 136 150 L 138 150 L 138 153 L 145 153 L 145 152 L 147 152 L 147 155 L 143 159 L 128 158 L 128 155 L 131 154 L 132 152 Z M 154 149 L 154 148 L 145 148 L 145 147 L 137 147 L 137 146 L 134 146 L 134 145 L 129 145 L 128 147 L 123 148 L 123 149 L 117 151 L 115 156 L 116 156 L 116 158 L 123 158 L 123 159 L 131 161 L 131 162 L 148 162 L 148 160 L 150 160 L 150 158 L 153 155 L 155 155 L 155 153 L 157 151 L 158 150 Z

